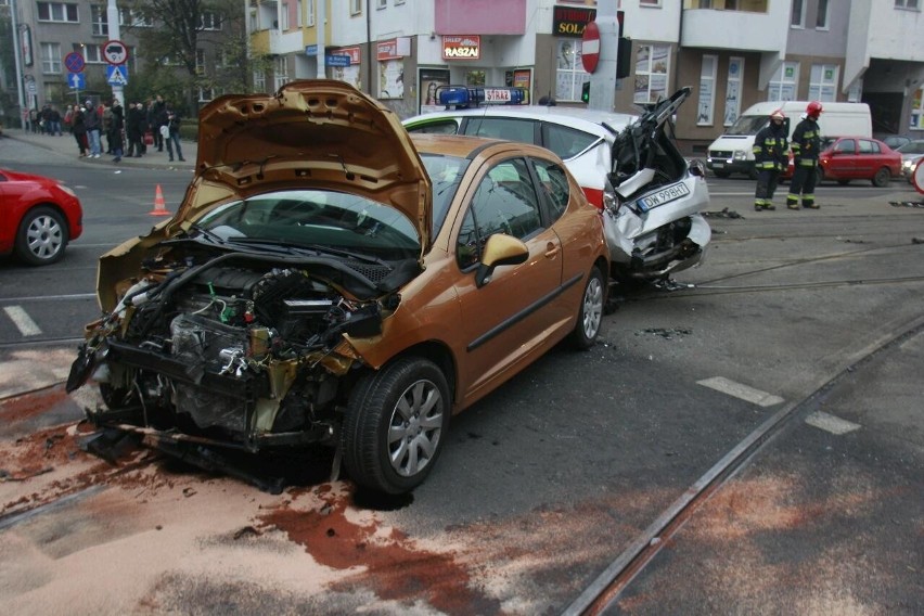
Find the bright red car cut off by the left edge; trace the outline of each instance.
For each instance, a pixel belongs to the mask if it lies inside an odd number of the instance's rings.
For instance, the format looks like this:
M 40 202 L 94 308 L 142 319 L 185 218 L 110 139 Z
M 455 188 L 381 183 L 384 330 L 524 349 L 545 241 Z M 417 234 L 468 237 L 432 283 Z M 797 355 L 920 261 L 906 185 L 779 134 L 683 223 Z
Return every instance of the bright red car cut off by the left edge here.
M 0 255 L 15 253 L 33 266 L 61 260 L 84 232 L 84 208 L 57 180 L 0 169 Z

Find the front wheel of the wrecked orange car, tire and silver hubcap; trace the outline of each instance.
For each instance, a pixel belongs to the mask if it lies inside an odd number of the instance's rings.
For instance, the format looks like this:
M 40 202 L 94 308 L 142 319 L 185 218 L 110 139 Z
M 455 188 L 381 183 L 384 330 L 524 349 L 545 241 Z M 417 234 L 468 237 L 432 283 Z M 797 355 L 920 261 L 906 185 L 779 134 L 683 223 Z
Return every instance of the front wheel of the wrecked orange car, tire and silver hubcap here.
M 401 495 L 420 486 L 449 429 L 446 375 L 432 361 L 401 358 L 360 378 L 343 426 L 344 464 L 357 485 Z

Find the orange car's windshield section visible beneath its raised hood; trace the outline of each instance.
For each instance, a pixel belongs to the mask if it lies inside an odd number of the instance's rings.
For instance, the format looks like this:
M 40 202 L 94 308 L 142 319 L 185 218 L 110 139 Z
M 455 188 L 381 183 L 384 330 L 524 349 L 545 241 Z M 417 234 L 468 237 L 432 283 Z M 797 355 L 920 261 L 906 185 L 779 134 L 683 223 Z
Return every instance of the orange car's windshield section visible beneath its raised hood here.
M 420 238 L 394 207 L 335 191 L 275 191 L 206 214 L 197 228 L 230 243 L 332 248 L 385 260 L 416 258 Z

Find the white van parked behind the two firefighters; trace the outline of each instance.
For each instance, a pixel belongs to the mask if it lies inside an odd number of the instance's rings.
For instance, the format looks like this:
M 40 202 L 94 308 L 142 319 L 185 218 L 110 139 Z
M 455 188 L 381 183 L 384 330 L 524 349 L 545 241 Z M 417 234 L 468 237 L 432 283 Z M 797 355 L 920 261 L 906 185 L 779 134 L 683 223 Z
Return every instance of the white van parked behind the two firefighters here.
M 790 137 L 801 121 L 809 101 L 774 101 L 747 107 L 741 117 L 716 139 L 706 156 L 706 168 L 720 178 L 744 174 L 757 179 L 754 168 L 754 138 L 770 121 L 770 114 L 782 108 L 790 124 Z M 872 137 L 873 120 L 867 103 L 822 103 L 818 118 L 822 137 Z

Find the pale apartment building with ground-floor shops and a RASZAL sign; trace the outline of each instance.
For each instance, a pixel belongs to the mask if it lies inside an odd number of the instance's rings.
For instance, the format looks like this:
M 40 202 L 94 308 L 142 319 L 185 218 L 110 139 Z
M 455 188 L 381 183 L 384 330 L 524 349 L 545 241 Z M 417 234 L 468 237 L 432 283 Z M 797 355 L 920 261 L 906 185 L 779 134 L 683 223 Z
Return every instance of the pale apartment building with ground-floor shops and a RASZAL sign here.
M 510 85 L 530 100 L 580 104 L 593 0 L 247 0 L 272 89 L 345 79 L 402 116 L 445 84 Z M 924 131 L 921 0 L 618 0 L 632 76 L 617 111 L 692 86 L 678 138 L 702 152 L 760 101 L 864 101 L 880 132 Z M 325 25 L 319 31 L 319 12 Z M 319 70 L 320 65 L 320 70 Z M 924 132 L 921 133 L 924 136 Z

